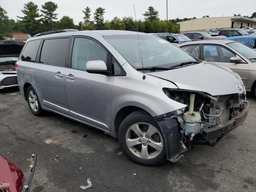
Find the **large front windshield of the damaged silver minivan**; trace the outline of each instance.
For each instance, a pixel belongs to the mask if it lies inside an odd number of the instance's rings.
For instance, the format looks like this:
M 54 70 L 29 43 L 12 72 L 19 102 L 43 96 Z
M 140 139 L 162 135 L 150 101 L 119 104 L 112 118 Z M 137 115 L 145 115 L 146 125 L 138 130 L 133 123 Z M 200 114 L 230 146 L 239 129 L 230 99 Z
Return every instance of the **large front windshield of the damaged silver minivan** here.
M 104 38 L 132 65 L 134 68 L 165 67 L 188 61 L 196 61 L 180 48 L 153 35 L 113 35 Z M 140 54 L 141 51 L 141 54 Z

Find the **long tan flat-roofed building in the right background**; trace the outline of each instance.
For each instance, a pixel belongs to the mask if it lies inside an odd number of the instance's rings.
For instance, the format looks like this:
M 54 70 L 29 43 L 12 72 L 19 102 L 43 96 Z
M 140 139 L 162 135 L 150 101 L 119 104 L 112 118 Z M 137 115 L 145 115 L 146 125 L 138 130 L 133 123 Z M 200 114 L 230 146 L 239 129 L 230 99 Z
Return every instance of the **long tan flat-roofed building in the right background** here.
M 242 16 L 203 17 L 199 19 L 178 22 L 177 24 L 180 25 L 181 33 L 189 31 L 204 31 L 213 28 L 240 28 L 242 26 L 256 28 L 256 18 L 252 19 Z

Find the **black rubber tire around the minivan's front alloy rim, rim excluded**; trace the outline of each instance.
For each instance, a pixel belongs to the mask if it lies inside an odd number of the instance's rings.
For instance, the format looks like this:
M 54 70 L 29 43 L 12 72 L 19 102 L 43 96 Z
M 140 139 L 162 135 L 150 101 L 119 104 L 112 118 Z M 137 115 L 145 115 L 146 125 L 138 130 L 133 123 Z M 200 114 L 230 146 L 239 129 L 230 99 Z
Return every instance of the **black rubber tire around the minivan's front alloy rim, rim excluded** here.
M 136 156 L 128 148 L 128 146 L 126 144 L 126 133 L 128 132 L 130 126 L 132 126 L 136 123 L 150 124 L 150 125 L 154 126 L 154 128 L 156 128 L 159 131 L 158 134 L 159 133 L 161 134 L 163 148 L 162 148 L 161 152 L 159 152 L 159 154 L 156 157 L 150 158 L 150 159 L 140 158 L 139 156 Z M 142 164 L 142 165 L 146 165 L 146 166 L 156 166 L 156 165 L 164 163 L 167 160 L 164 136 L 161 132 L 161 129 L 159 128 L 159 126 L 158 126 L 157 122 L 154 120 L 154 118 L 150 114 L 145 112 L 144 110 L 138 110 L 138 111 L 132 112 L 122 121 L 120 128 L 118 130 L 118 142 L 119 142 L 119 145 L 120 145 L 122 151 L 124 152 L 124 154 L 126 154 L 126 156 L 128 156 L 128 158 L 130 158 L 132 161 L 134 161 L 138 164 Z M 150 145 L 150 144 L 148 144 L 148 145 Z M 142 144 L 141 145 L 139 144 L 137 146 L 142 146 Z

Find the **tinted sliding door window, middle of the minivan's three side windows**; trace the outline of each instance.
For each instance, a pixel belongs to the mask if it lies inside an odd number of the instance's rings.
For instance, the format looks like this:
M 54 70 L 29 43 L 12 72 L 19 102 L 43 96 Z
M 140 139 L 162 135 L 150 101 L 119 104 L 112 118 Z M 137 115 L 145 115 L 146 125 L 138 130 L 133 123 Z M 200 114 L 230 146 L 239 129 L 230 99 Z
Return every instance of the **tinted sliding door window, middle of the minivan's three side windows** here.
M 69 38 L 44 40 L 40 63 L 65 66 Z

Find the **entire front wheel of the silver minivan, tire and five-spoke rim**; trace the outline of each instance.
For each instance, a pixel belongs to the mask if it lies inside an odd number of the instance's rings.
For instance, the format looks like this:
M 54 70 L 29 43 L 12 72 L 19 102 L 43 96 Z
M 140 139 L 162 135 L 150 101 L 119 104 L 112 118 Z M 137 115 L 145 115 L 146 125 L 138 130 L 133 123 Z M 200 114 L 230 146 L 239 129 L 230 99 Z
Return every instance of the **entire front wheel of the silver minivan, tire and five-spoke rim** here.
M 123 152 L 134 162 L 154 166 L 166 160 L 164 137 L 150 114 L 138 110 L 120 125 L 118 141 Z

